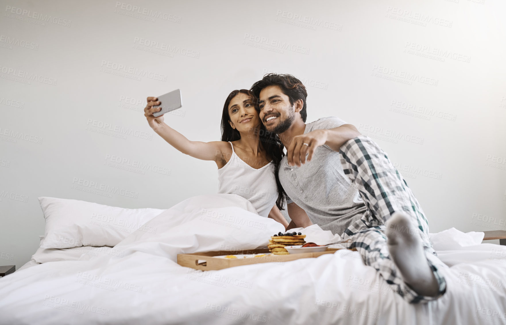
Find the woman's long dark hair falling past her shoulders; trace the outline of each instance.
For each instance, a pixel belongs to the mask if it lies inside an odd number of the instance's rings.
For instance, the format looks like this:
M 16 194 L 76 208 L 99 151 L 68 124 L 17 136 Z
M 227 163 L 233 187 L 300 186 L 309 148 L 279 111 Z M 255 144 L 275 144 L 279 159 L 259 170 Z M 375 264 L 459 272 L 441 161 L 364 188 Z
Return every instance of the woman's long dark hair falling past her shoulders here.
M 241 138 L 241 134 L 236 129 L 230 126 L 228 122 L 230 120 L 230 115 L 228 113 L 228 106 L 234 97 L 237 94 L 245 94 L 251 97 L 251 101 L 257 107 L 257 98 L 253 93 L 246 89 L 234 90 L 230 93 L 225 101 L 225 105 L 223 106 L 222 113 L 222 123 L 221 123 L 221 131 L 222 131 L 222 141 L 236 141 Z M 278 199 L 276 200 L 276 206 L 279 210 L 284 210 L 283 206 L 286 202 L 285 196 L 286 193 L 281 186 L 281 182 L 279 181 L 278 171 L 279 171 L 279 163 L 283 156 L 285 155 L 283 152 L 283 144 L 276 133 L 269 132 L 265 129 L 264 123 L 260 123 L 260 131 L 259 131 L 260 144 L 267 152 L 268 157 L 272 159 L 272 163 L 275 166 L 274 175 L 276 176 L 276 185 L 278 187 Z

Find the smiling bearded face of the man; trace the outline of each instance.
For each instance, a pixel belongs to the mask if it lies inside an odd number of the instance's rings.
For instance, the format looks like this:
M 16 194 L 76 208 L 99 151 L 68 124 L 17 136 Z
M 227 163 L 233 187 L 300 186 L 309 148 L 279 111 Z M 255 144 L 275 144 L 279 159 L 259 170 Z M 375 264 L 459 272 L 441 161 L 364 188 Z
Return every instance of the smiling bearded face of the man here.
M 278 85 L 260 91 L 259 108 L 260 119 L 269 132 L 283 133 L 295 120 L 294 105 L 290 105 L 290 99 Z

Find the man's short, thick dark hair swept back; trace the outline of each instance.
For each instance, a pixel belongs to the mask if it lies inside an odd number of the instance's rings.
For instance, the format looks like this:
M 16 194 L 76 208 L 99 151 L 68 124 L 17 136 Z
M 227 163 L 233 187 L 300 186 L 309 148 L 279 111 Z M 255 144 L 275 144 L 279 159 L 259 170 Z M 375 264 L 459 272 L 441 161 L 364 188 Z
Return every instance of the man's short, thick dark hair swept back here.
M 302 120 L 305 123 L 306 117 L 308 116 L 306 113 L 306 98 L 308 97 L 308 92 L 301 80 L 291 74 L 268 73 L 262 78 L 262 80 L 255 82 L 249 90 L 253 92 L 255 97 L 260 98 L 260 91 L 262 91 L 262 89 L 275 85 L 278 85 L 281 88 L 281 91 L 283 91 L 283 94 L 288 96 L 290 105 L 293 106 L 293 103 L 302 99 L 304 105 L 299 113 L 301 113 Z M 257 110 L 260 110 L 258 105 L 256 105 L 256 108 Z

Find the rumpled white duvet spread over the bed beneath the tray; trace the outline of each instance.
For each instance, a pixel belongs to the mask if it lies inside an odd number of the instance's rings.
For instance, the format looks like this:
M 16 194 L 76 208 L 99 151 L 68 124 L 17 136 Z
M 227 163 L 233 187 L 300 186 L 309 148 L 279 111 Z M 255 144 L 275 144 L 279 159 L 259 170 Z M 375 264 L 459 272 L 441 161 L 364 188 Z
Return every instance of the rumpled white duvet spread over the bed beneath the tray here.
M 99 254 L 0 278 L 0 324 L 506 323 L 506 247 L 479 244 L 480 233 L 431 236 L 449 265 L 447 292 L 410 305 L 348 250 L 219 271 L 178 265 L 180 253 L 255 249 L 283 231 L 235 195 L 190 198 L 146 225 L 156 234 L 138 230 Z

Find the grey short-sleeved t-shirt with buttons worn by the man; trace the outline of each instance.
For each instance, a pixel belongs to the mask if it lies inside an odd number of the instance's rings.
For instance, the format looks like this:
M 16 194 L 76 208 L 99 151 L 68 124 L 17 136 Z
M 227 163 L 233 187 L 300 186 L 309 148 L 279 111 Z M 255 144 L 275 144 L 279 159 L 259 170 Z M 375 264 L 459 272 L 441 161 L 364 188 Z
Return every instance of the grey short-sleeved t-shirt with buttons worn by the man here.
M 347 123 L 335 116 L 323 117 L 306 124 L 304 134 L 343 124 Z M 327 145 L 316 148 L 311 161 L 301 167 L 289 166 L 286 156 L 279 166 L 279 181 L 290 198 L 288 203 L 303 208 L 323 230 L 342 235 L 366 211 L 356 184 L 343 171 L 339 152 Z

